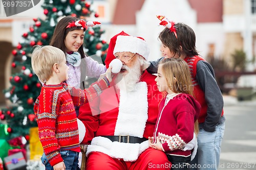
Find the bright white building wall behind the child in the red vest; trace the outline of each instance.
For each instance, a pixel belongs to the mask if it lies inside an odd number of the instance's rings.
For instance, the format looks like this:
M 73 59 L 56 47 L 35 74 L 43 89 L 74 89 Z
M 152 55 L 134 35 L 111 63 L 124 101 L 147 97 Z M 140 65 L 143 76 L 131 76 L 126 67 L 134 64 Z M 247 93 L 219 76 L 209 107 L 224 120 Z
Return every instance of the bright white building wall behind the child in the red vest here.
M 156 15 L 164 15 L 169 20 L 184 22 L 196 29 L 196 12 L 190 8 L 187 0 L 145 0 L 141 11 L 136 14 L 136 33 L 137 36 L 143 37 L 151 48 L 148 60 L 161 57 L 158 35 L 164 27 L 158 27 L 160 20 Z

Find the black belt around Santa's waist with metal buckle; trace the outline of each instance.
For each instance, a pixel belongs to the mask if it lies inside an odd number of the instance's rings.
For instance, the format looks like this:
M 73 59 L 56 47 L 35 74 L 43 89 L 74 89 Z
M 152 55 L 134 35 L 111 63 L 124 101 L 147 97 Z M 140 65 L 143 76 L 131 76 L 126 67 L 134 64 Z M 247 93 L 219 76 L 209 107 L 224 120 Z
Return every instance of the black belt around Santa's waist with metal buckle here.
M 147 138 L 139 138 L 129 135 L 119 135 L 119 136 L 102 136 L 110 139 L 111 141 L 118 141 L 123 143 L 142 143 L 143 141 L 146 141 Z

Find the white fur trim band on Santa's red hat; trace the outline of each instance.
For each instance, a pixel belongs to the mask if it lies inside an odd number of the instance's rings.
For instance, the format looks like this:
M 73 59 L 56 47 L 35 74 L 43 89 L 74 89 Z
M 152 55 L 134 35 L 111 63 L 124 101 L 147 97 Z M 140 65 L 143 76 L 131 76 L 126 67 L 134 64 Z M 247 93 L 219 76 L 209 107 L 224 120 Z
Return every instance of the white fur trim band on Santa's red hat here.
M 116 39 L 113 54 L 115 55 L 115 53 L 118 52 L 137 53 L 147 61 L 148 56 L 150 55 L 150 48 L 147 46 L 146 41 L 141 38 L 119 35 Z

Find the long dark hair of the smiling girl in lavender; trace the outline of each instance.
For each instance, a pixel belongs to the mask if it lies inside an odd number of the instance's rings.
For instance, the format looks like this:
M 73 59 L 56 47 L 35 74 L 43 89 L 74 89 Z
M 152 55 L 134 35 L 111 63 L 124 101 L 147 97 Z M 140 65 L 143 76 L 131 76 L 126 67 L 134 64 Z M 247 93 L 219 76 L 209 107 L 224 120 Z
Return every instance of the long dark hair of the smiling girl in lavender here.
M 66 16 L 60 19 L 54 29 L 53 36 L 50 40 L 50 45 L 59 48 L 66 54 L 66 46 L 64 42 L 67 34 L 70 31 L 81 30 L 81 27 L 71 27 L 71 28 L 66 28 L 66 27 L 69 25 L 70 22 L 77 21 L 77 20 L 78 18 L 73 16 Z M 83 29 L 83 31 L 86 31 L 86 29 Z M 79 47 L 78 53 L 81 55 L 81 58 L 85 57 L 83 52 L 83 44 Z

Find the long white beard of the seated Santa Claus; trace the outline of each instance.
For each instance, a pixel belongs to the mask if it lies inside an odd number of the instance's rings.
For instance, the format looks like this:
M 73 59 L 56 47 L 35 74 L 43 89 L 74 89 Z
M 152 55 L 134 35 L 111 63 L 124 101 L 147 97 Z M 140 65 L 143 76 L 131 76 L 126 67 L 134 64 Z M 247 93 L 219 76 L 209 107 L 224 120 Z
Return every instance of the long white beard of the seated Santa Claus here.
M 117 87 L 119 89 L 126 89 L 126 91 L 133 91 L 135 84 L 139 82 L 141 77 L 141 66 L 139 62 L 135 62 L 133 67 L 127 67 L 126 65 L 123 65 L 122 68 L 127 70 L 126 75 L 119 74 L 118 78 L 116 80 L 120 80 L 122 77 L 122 80 L 117 83 Z

